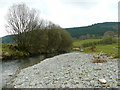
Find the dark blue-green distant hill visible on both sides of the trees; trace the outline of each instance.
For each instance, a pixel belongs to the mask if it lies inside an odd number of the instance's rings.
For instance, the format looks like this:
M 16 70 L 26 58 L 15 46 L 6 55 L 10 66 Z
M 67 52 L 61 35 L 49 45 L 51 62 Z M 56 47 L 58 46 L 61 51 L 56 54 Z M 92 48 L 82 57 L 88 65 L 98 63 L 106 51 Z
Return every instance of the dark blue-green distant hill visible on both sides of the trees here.
M 84 27 L 72 27 L 72 28 L 64 28 L 66 31 L 70 33 L 70 35 L 74 38 L 79 38 L 82 35 L 97 35 L 102 36 L 106 31 L 118 31 L 118 25 L 120 22 L 104 22 L 92 24 L 90 26 Z M 7 35 L 2 37 L 2 43 L 13 43 L 13 35 Z

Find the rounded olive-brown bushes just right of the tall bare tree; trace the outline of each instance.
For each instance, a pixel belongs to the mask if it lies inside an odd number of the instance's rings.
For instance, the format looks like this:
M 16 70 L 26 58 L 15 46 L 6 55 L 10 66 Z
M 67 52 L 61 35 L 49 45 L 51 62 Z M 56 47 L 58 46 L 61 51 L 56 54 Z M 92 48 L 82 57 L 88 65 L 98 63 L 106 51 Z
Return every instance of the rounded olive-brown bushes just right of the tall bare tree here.
M 45 30 L 34 30 L 27 48 L 31 54 L 67 51 L 72 45 L 70 34 L 57 25 L 49 25 Z

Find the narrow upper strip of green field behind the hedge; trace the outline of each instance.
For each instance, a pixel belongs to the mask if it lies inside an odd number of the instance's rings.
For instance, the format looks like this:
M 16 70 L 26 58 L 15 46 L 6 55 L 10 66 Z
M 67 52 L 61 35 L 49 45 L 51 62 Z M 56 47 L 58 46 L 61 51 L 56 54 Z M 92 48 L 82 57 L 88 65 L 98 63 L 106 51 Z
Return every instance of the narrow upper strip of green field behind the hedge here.
M 86 39 L 86 40 L 77 40 L 73 42 L 73 47 L 79 47 L 82 44 L 88 43 L 88 42 L 97 42 L 101 41 L 102 39 Z

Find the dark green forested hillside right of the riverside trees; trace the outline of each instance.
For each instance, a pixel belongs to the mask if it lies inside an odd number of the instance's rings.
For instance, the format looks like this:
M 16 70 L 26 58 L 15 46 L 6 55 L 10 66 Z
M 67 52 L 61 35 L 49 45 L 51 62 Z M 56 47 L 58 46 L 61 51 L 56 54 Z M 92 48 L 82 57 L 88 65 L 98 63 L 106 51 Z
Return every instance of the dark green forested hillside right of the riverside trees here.
M 66 28 L 66 30 L 71 34 L 73 38 L 77 39 L 88 39 L 88 38 L 98 38 L 104 35 L 106 31 L 114 31 L 117 33 L 119 22 L 105 22 L 93 24 L 91 26 L 85 27 L 74 27 L 74 28 Z M 88 35 L 90 37 L 88 37 Z M 81 37 L 84 36 L 84 37 Z

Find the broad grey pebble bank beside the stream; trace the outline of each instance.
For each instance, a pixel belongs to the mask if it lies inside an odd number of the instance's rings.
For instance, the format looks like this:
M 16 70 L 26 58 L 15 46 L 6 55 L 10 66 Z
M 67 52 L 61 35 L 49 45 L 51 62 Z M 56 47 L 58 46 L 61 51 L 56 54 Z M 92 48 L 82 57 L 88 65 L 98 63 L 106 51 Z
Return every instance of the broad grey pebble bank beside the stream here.
M 13 80 L 15 88 L 117 88 L 117 59 L 92 63 L 93 55 L 66 53 L 22 69 Z M 102 83 L 99 80 L 105 79 Z

